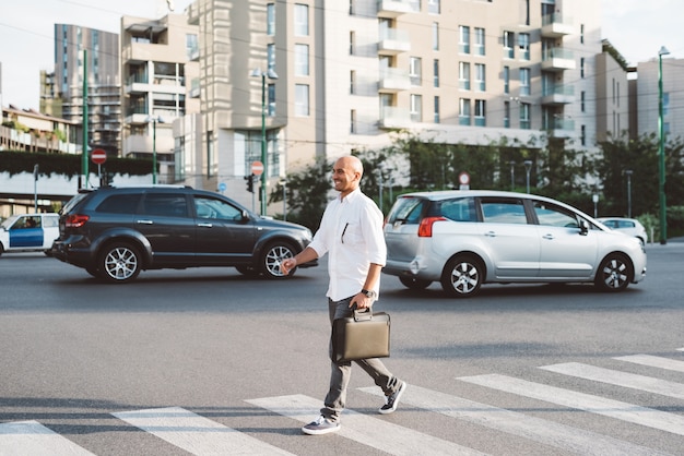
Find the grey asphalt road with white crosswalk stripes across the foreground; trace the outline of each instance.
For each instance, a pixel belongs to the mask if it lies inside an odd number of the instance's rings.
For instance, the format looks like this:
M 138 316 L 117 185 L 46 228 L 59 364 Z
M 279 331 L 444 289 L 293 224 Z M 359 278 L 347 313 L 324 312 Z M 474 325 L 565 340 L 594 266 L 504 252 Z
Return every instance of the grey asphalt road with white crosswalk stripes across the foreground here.
M 386 363 L 404 401 L 377 415 L 356 368 L 343 431 L 319 437 L 299 428 L 328 385 L 325 262 L 290 280 L 200 268 L 121 286 L 4 254 L 0 455 L 40 439 L 56 455 L 681 454 L 684 243 L 647 250 L 646 280 L 618 295 L 485 286 L 455 300 L 384 276 L 376 310 L 392 316 Z

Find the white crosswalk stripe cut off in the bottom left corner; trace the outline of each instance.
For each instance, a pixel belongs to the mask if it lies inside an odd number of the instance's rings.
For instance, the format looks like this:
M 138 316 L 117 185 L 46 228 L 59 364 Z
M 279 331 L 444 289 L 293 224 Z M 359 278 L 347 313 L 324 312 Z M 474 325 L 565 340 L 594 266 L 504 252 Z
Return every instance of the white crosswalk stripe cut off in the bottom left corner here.
M 0 423 L 0 455 L 92 456 L 93 453 L 32 420 Z

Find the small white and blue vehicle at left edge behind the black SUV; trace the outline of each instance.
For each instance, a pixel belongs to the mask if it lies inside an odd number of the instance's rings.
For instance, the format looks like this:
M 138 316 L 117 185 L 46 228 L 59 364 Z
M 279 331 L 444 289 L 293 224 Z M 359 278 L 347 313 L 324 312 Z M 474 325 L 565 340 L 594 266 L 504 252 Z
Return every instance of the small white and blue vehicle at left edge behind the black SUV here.
M 20 214 L 0 224 L 0 255 L 2 252 L 43 251 L 49 255 L 59 237 L 59 215 Z

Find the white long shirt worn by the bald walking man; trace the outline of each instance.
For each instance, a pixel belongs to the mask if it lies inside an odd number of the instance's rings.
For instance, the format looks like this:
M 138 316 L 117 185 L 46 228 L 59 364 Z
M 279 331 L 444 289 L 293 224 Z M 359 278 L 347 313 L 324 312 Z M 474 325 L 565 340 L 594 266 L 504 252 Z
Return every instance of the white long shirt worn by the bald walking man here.
M 309 247 L 318 257 L 330 253 L 326 296 L 333 301 L 352 297 L 363 289 L 370 263 L 385 266 L 382 213 L 359 189 L 344 199 L 338 196 L 328 203 Z M 378 280 L 374 291 L 379 292 L 379 287 Z

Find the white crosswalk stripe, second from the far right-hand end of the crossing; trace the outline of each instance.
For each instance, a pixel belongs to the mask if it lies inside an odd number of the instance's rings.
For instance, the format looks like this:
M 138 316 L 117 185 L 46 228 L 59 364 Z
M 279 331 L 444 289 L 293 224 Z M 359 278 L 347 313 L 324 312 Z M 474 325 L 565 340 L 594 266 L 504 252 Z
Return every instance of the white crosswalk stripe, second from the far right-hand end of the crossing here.
M 684 399 L 684 384 L 669 382 L 667 380 L 597 368 L 595 365 L 582 364 L 580 362 L 543 365 L 540 369 L 578 379 L 592 380 L 594 382 L 608 383 L 610 385 L 623 386 L 625 388 L 640 389 L 659 394 L 661 396 L 674 397 L 676 399 Z

